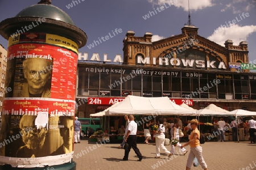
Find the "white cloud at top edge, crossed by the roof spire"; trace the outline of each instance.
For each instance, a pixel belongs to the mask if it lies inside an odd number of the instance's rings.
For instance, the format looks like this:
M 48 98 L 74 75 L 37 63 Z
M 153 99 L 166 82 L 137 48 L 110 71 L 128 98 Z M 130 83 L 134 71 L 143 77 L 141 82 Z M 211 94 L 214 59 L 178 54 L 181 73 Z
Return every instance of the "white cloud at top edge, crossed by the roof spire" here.
M 174 5 L 177 8 L 183 8 L 184 11 L 188 11 L 188 1 L 181 0 L 147 0 L 153 5 L 162 6 L 164 3 L 168 3 L 169 5 Z M 201 10 L 206 7 L 213 6 L 213 0 L 190 0 L 189 6 L 191 10 Z M 176 3 L 175 3 L 176 2 Z

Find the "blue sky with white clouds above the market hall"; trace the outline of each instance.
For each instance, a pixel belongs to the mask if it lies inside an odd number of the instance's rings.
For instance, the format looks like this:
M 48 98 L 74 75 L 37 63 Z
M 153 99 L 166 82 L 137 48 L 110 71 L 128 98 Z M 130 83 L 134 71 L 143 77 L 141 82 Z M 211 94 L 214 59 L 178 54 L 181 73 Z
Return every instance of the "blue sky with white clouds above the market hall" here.
M 135 36 L 151 32 L 153 40 L 178 35 L 188 21 L 187 0 L 52 0 L 52 5 L 61 8 L 71 16 L 76 26 L 88 36 L 87 44 L 79 51 L 98 53 L 103 61 L 104 53 L 112 59 L 116 54 L 123 57 L 123 39 L 127 31 Z M 19 11 L 38 1 L 1 0 L 0 20 L 12 18 Z M 249 44 L 249 60 L 256 63 L 256 0 L 190 0 L 192 24 L 199 28 L 199 35 L 222 46 L 228 39 L 234 45 L 241 41 Z M 76 4 L 76 5 L 74 5 Z M 73 7 L 71 7 L 71 5 Z M 157 8 L 162 11 L 158 12 Z M 152 11 L 156 10 L 155 15 Z M 149 12 L 151 11 L 151 15 Z M 242 14 L 247 15 L 243 15 Z M 144 19 L 148 15 L 149 18 Z M 236 23 L 229 25 L 229 21 Z M 222 27 L 221 27 L 222 25 Z M 224 28 L 223 25 L 228 25 Z M 115 29 L 118 34 L 113 36 Z M 109 40 L 88 48 L 98 37 L 109 35 Z M 0 44 L 7 49 L 7 40 L 0 36 Z

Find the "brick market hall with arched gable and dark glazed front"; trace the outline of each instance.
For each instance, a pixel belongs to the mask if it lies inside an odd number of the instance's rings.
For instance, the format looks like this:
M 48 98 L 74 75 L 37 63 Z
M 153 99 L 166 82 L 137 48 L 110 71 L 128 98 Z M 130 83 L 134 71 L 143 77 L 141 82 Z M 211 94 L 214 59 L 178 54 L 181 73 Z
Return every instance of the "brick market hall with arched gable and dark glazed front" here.
M 185 25 L 181 34 L 152 42 L 152 33 L 143 37 L 128 31 L 123 40 L 120 65 L 88 62 L 79 54 L 77 96 L 78 116 L 103 111 L 127 95 L 168 96 L 176 104 L 201 109 L 209 104 L 228 111 L 256 111 L 256 74 L 245 69 L 249 63 L 247 42 L 218 45 Z M 91 60 L 100 61 L 98 54 Z M 121 62 L 121 56 L 114 61 Z

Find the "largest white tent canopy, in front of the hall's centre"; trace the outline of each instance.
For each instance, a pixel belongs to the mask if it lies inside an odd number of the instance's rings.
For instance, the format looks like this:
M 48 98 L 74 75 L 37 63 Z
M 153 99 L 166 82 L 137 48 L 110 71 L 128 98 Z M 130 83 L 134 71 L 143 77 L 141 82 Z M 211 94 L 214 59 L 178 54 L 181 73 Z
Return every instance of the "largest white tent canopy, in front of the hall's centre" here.
M 139 97 L 127 96 L 118 105 L 106 112 L 109 116 L 122 116 L 125 114 L 141 115 L 195 115 L 196 111 L 180 107 L 172 103 L 168 97 Z

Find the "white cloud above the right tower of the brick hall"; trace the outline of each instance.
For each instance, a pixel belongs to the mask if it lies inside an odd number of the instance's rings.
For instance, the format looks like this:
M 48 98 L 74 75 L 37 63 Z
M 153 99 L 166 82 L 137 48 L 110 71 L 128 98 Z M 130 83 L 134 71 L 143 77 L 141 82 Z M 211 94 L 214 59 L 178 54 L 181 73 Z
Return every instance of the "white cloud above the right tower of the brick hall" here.
M 207 39 L 222 46 L 224 46 L 226 40 L 232 40 L 234 42 L 233 45 L 239 45 L 241 41 L 246 41 L 247 37 L 255 32 L 256 25 L 240 26 L 234 24 L 230 27 L 218 27 Z

